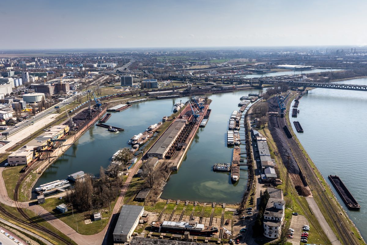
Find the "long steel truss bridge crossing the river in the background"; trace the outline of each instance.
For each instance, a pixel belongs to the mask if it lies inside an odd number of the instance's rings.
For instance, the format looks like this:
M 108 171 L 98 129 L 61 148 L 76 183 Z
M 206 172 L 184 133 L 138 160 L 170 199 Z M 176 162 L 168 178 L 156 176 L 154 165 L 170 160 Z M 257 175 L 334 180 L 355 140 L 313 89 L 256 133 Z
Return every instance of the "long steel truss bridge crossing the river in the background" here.
M 159 75 L 156 75 L 159 76 Z M 264 79 L 264 78 L 214 78 L 209 76 L 177 76 L 177 75 L 169 75 L 171 80 L 181 80 L 194 82 L 221 82 L 225 83 L 242 83 L 242 84 L 251 84 L 251 86 L 255 85 L 261 87 L 262 84 L 287 84 L 290 87 L 313 87 L 313 88 L 323 88 L 323 89 L 342 89 L 342 90 L 355 90 L 355 91 L 367 91 L 366 85 L 357 85 L 357 84 L 337 84 L 337 83 L 313 83 L 313 82 L 295 82 L 291 79 Z

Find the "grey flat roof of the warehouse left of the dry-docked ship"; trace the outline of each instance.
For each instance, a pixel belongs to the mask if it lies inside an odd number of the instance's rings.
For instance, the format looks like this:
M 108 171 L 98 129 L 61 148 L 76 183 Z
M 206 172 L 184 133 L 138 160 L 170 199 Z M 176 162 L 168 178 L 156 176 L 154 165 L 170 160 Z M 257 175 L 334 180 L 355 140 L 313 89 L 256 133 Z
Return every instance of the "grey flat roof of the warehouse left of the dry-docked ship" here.
M 113 234 L 120 235 L 121 233 L 128 234 L 133 228 L 135 221 L 140 213 L 144 210 L 143 206 L 123 205 L 121 207 L 120 216 L 117 220 Z

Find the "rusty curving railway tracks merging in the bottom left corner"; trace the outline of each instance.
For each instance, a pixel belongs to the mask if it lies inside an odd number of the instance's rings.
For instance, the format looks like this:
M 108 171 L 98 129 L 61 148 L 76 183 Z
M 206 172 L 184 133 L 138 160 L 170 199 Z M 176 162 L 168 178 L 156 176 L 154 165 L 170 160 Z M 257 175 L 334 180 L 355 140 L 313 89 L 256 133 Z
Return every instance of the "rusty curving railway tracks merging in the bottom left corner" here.
M 25 220 L 20 219 L 14 215 L 12 215 L 10 212 L 8 212 L 4 207 L 0 206 L 0 210 L 2 213 L 4 213 L 6 216 L 10 217 L 13 220 L 18 221 L 19 223 L 22 223 L 28 227 L 32 227 L 35 228 L 39 231 L 42 231 L 43 233 L 46 233 L 48 235 L 50 235 L 50 237 L 54 237 L 57 238 L 58 240 L 62 241 L 64 244 L 68 244 L 68 245 L 73 245 L 73 243 L 61 236 L 59 236 L 57 233 L 54 233 L 53 231 L 41 226 L 40 224 L 38 224 L 36 221 L 33 221 L 21 208 L 21 206 L 19 205 L 18 202 L 18 191 L 19 191 L 19 187 L 21 182 L 25 179 L 25 177 L 28 175 L 28 173 L 30 172 L 31 169 L 34 169 L 36 167 L 36 165 L 34 165 L 32 168 L 29 167 L 28 170 L 26 170 L 24 173 L 21 174 L 21 176 L 19 177 L 18 181 L 17 181 L 17 185 L 15 186 L 15 191 L 14 191 L 14 201 L 15 204 L 17 206 L 17 210 L 18 212 L 25 218 Z

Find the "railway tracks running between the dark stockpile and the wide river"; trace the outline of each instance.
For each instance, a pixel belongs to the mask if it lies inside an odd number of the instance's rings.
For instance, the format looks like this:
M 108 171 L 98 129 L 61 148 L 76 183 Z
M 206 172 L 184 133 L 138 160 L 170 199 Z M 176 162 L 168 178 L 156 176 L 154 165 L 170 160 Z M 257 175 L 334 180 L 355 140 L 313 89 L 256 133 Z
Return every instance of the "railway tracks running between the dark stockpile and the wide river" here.
M 278 123 L 280 127 L 285 127 L 286 124 L 286 117 L 278 118 Z M 331 201 L 330 198 L 327 197 L 325 194 L 325 190 L 323 185 L 320 183 L 319 179 L 317 178 L 316 174 L 313 172 L 312 167 L 310 166 L 309 162 L 305 158 L 304 153 L 299 148 L 298 143 L 294 140 L 293 137 L 289 138 L 286 137 L 287 143 L 291 148 L 292 153 L 296 156 L 298 160 L 298 165 L 302 170 L 305 178 L 307 179 L 307 183 L 312 186 L 313 191 L 316 191 L 319 195 L 321 202 L 323 202 L 323 207 L 325 208 L 328 216 L 334 221 L 335 229 L 337 230 L 338 237 L 342 241 L 342 244 L 349 245 L 349 244 L 358 244 L 355 237 L 350 234 L 348 229 L 346 228 L 346 220 L 342 219 L 339 213 L 333 208 L 334 203 Z M 317 183 L 317 184 L 314 184 Z M 340 225 L 339 225 L 340 224 Z M 348 224 L 349 225 L 349 224 Z

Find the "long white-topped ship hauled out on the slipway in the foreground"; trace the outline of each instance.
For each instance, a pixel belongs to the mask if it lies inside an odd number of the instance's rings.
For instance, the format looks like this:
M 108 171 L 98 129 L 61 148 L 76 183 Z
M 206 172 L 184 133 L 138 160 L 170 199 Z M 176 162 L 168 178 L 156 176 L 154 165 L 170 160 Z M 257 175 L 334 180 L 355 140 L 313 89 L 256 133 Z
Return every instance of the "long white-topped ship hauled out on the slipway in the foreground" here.
M 150 224 L 158 232 L 171 231 L 175 233 L 185 233 L 189 231 L 190 234 L 196 235 L 211 235 L 218 232 L 218 228 L 214 226 L 205 226 L 199 224 L 197 221 L 190 222 L 175 222 L 175 221 L 163 221 L 163 222 L 152 222 Z

